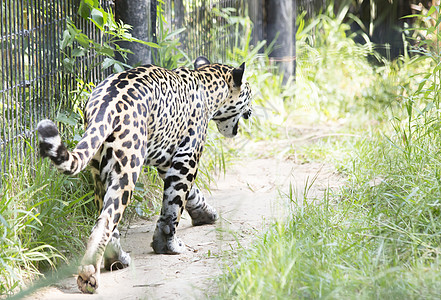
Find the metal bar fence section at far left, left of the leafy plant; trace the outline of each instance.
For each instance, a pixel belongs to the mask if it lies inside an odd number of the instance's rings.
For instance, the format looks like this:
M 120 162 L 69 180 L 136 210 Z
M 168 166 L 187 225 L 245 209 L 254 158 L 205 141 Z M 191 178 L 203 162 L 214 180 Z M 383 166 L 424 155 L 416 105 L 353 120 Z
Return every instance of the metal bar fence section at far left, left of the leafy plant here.
M 20 169 L 33 159 L 34 128 L 54 118 L 75 78 L 63 72 L 60 39 L 72 20 L 87 35 L 101 37 L 76 17 L 77 0 L 3 0 L 0 8 L 0 173 Z M 91 54 L 93 55 L 93 54 Z M 90 57 L 78 60 L 86 66 Z M 108 74 L 92 70 L 92 81 Z M 11 168 L 14 166 L 14 168 Z

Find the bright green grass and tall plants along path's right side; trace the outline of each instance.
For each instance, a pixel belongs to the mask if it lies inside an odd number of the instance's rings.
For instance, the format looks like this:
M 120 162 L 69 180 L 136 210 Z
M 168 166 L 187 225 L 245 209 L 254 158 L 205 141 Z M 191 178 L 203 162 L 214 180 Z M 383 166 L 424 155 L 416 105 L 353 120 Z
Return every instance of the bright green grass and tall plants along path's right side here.
M 338 123 L 345 135 L 296 151 L 347 184 L 315 201 L 286 195 L 291 216 L 227 265 L 219 298 L 438 299 L 440 59 L 375 66 L 338 18 L 318 19 L 297 36 L 296 98 L 284 105 Z

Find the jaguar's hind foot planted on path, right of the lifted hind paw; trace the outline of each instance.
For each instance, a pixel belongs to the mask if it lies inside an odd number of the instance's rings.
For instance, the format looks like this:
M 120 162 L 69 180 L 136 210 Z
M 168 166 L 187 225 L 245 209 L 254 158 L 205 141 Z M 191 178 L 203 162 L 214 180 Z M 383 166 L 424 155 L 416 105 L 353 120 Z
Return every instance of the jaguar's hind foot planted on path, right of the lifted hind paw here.
M 124 269 L 130 265 L 130 261 L 130 255 L 121 247 L 118 228 L 115 228 L 104 251 L 104 268 L 108 271 Z

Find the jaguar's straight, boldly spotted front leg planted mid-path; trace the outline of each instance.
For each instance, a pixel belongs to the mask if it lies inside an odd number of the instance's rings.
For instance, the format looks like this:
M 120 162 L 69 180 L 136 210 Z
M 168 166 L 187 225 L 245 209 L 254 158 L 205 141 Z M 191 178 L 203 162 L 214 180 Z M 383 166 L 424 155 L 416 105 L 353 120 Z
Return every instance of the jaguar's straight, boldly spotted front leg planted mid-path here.
M 189 163 L 190 160 L 185 159 L 185 156 L 178 158 L 179 160 L 174 161 L 162 175 L 164 179 L 162 209 L 151 244 L 158 254 L 179 254 L 185 250 L 184 243 L 176 237 L 176 227 L 194 182 L 196 164 Z

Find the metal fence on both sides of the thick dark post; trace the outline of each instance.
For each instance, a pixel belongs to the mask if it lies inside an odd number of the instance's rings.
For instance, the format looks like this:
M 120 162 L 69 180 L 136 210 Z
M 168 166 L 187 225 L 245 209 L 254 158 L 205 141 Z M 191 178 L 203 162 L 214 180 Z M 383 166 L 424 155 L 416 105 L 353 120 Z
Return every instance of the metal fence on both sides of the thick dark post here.
M 210 54 L 225 61 L 234 46 L 234 30 L 225 13 L 243 14 L 244 0 L 145 0 L 154 8 L 163 4 L 171 29 L 185 27 L 177 38 L 188 57 Z M 24 161 L 35 159 L 35 126 L 43 118 L 54 119 L 60 109 L 69 109 L 69 92 L 77 88 L 73 74 L 65 72 L 60 41 L 69 20 L 95 41 L 102 37 L 77 15 L 80 0 L 3 0 L 0 8 L 0 175 L 20 170 Z M 113 9 L 112 1 L 101 1 Z M 231 8 L 234 8 L 233 10 Z M 153 9 L 152 12 L 156 10 Z M 156 14 L 156 13 L 155 13 Z M 156 17 L 156 16 L 155 16 Z M 149 21 L 147 21 L 149 22 Z M 156 22 L 157 23 L 157 22 Z M 149 26 L 149 24 L 146 24 Z M 149 41 L 154 41 L 155 30 Z M 95 54 L 77 60 L 97 83 L 110 69 L 91 64 Z M 93 67 L 93 65 L 95 67 Z M 81 75 L 79 76 L 81 77 Z M 77 76 L 78 78 L 78 76 Z M 83 76 L 85 78 L 85 76 Z M 1 183 L 1 181 L 0 181 Z

